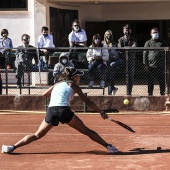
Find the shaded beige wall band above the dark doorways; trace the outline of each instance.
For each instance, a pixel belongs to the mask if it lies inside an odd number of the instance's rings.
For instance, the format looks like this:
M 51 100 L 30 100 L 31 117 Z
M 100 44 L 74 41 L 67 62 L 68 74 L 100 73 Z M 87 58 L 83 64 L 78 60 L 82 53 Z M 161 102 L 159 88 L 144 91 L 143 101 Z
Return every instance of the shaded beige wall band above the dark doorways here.
M 116 4 L 48 4 L 60 9 L 75 9 L 79 12 L 79 20 L 85 29 L 87 21 L 107 20 L 160 20 L 170 19 L 170 2 L 157 3 L 116 3 Z M 47 15 L 47 22 L 49 17 Z

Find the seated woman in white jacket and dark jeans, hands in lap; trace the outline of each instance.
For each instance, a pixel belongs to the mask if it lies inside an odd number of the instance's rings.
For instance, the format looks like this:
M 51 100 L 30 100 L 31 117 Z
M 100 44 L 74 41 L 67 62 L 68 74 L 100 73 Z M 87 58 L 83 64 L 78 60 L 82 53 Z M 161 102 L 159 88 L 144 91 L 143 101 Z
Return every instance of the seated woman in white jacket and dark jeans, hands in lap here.
M 107 70 L 107 61 L 109 60 L 109 53 L 106 48 L 101 49 L 102 47 L 101 38 L 99 34 L 95 34 L 92 38 L 91 49 L 88 49 L 86 57 L 89 62 L 89 87 L 93 87 L 94 78 L 99 76 L 101 82 L 100 87 L 105 87 L 105 72 Z M 93 47 L 93 48 L 92 48 Z M 94 48 L 94 47 L 100 47 Z

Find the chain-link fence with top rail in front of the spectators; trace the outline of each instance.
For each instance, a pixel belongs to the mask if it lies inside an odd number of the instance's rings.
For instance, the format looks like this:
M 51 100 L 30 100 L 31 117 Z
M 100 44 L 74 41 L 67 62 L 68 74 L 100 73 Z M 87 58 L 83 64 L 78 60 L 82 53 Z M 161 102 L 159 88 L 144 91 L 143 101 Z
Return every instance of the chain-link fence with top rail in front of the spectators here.
M 84 71 L 80 86 L 88 95 L 169 95 L 169 48 L 105 48 L 108 60 L 91 54 L 91 61 L 87 58 L 89 49 L 96 48 L 46 49 L 48 53 L 17 48 L 0 53 L 2 94 L 40 95 L 57 82 L 62 68 L 71 62 Z

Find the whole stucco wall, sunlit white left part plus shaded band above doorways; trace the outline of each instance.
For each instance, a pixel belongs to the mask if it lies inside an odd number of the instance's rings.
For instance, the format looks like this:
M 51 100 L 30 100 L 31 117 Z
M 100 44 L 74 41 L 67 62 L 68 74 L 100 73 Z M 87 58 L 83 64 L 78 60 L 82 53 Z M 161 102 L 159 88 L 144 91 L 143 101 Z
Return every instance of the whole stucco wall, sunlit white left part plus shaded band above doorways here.
M 170 19 L 170 2 L 57 5 L 47 3 L 47 0 L 29 0 L 28 11 L 0 11 L 0 29 L 9 30 L 9 37 L 12 38 L 14 47 L 21 44 L 23 33 L 29 34 L 30 44 L 36 46 L 41 27 L 49 26 L 50 6 L 78 10 L 80 24 L 84 29 L 87 21 Z

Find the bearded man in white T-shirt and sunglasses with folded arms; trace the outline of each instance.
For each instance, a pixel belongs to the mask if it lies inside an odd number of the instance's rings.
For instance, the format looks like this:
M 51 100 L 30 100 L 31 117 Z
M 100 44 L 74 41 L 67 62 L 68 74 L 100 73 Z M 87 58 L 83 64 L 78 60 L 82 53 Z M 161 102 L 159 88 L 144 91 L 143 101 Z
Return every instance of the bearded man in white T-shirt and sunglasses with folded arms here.
M 79 21 L 76 19 L 72 23 L 72 31 L 68 36 L 70 47 L 86 47 L 87 35 L 86 32 L 80 27 Z M 83 59 L 79 59 L 81 54 L 85 53 L 86 50 L 76 49 L 70 50 L 70 59 L 73 60 L 75 67 L 77 68 Z

